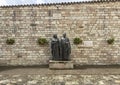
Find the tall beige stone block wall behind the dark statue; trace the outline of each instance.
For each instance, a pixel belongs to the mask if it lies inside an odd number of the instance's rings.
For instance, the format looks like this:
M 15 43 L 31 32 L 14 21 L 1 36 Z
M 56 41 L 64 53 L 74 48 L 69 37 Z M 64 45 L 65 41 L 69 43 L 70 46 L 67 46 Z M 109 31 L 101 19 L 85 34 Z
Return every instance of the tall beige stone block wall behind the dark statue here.
M 0 65 L 43 65 L 50 46 L 38 45 L 66 32 L 75 64 L 120 64 L 120 2 L 0 7 Z M 73 39 L 83 40 L 74 45 Z M 114 38 L 113 45 L 106 40 Z M 6 39 L 14 38 L 14 45 Z

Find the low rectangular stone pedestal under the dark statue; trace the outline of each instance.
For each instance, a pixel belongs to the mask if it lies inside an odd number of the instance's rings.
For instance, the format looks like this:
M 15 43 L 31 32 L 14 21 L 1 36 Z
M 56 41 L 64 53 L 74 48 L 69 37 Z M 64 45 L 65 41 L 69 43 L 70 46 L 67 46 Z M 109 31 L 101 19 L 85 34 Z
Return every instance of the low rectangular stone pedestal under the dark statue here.
M 74 65 L 72 61 L 49 61 L 50 69 L 73 69 Z

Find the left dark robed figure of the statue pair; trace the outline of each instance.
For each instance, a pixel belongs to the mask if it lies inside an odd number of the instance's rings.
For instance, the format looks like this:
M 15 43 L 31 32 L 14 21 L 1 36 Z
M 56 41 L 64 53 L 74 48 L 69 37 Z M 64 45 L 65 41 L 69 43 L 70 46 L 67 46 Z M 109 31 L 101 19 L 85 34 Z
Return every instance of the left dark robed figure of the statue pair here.
M 60 58 L 60 44 L 57 34 L 53 35 L 51 40 L 51 53 L 52 53 L 52 60 L 59 60 Z

